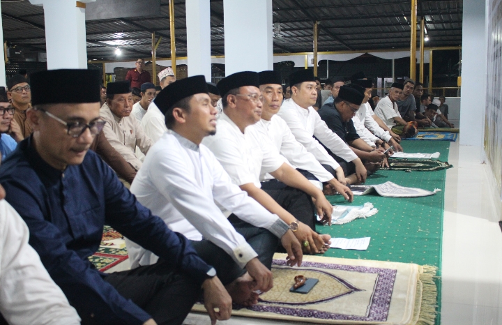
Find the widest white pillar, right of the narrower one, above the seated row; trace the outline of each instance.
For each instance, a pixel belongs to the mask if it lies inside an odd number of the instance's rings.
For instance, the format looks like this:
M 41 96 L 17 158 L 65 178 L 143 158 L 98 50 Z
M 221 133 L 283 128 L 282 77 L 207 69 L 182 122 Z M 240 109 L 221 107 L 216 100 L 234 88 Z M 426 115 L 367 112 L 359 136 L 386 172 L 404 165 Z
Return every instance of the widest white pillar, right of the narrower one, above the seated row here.
M 272 0 L 224 0 L 225 74 L 273 70 Z

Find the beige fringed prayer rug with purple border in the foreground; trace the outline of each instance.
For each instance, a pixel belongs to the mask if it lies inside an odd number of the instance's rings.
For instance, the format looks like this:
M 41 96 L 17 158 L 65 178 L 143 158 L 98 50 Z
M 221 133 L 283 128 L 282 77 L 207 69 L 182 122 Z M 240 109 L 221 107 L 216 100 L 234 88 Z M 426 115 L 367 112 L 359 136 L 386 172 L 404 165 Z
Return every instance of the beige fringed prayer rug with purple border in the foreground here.
M 300 267 L 274 256 L 274 287 L 249 308 L 232 315 L 316 324 L 434 324 L 434 266 L 304 256 Z M 319 282 L 307 294 L 290 292 L 294 277 Z M 198 303 L 192 308 L 204 312 Z

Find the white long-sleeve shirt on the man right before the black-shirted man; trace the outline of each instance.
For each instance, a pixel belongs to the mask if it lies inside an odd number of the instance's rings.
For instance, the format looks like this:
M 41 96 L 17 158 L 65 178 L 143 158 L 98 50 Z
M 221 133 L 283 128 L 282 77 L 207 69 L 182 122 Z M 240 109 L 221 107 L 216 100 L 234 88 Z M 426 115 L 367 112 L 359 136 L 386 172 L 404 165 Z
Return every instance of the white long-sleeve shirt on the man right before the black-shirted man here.
M 321 119 L 314 108 L 305 109 L 297 105 L 293 98 L 289 98 L 284 100 L 277 115 L 286 121 L 296 140 L 303 144 L 305 149 L 312 153 L 321 164 L 330 165 L 333 169 L 340 166 L 312 136 L 317 137 L 326 148 L 347 162 L 358 158 L 356 153 L 326 126 L 326 122 Z

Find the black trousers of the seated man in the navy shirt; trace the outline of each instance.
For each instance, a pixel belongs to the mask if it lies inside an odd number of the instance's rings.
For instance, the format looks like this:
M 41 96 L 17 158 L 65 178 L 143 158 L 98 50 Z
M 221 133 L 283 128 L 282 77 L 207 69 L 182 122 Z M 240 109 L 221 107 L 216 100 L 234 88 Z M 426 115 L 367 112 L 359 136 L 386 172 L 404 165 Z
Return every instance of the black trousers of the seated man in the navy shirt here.
M 159 325 L 182 324 L 201 294 L 200 284 L 162 261 L 111 273 L 105 281 L 148 312 Z M 82 324 L 94 324 L 93 319 L 82 319 Z

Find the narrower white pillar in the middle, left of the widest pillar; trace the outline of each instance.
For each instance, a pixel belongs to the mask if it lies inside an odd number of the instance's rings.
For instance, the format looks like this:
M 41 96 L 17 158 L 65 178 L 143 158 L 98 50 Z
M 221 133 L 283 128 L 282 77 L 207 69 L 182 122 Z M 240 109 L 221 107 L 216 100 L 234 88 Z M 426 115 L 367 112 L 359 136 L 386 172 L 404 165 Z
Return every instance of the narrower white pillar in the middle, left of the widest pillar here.
M 188 76 L 211 82 L 211 15 L 209 0 L 186 0 Z M 225 36 L 226 38 L 226 36 Z

